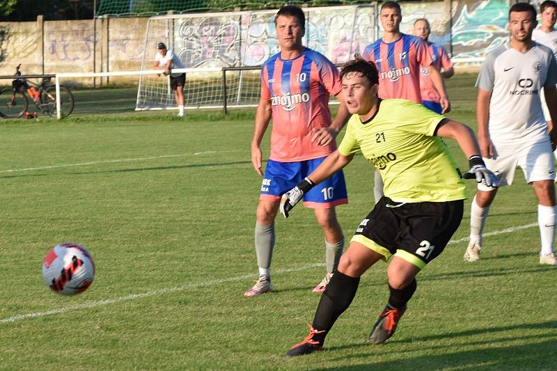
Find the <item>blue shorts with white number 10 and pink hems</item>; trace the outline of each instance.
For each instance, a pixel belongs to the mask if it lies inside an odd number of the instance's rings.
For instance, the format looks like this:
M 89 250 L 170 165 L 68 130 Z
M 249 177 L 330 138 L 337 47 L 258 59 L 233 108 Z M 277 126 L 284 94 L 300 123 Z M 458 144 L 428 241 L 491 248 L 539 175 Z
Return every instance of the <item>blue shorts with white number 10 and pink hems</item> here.
M 280 200 L 281 196 L 296 187 L 327 157 L 296 162 L 267 161 L 265 178 L 261 184 L 260 200 Z M 331 175 L 304 194 L 304 206 L 312 209 L 329 209 L 348 203 L 343 171 Z

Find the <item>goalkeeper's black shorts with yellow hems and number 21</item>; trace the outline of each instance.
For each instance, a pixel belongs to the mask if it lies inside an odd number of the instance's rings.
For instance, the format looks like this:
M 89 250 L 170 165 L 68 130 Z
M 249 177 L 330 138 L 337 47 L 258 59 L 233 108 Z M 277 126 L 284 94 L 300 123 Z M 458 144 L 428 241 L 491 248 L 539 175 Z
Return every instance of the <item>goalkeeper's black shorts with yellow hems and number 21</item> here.
M 384 255 L 399 256 L 422 269 L 437 258 L 460 226 L 464 200 L 395 203 L 382 197 L 358 226 L 352 241 Z

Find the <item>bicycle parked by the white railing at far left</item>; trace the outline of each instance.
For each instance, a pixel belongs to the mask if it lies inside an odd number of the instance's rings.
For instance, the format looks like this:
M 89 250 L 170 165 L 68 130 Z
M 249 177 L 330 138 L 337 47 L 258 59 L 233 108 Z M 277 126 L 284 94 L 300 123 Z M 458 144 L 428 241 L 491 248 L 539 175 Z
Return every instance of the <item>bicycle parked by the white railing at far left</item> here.
M 0 89 L 0 117 L 19 118 L 27 113 L 29 99 L 35 104 L 39 113 L 56 116 L 56 86 L 50 78 L 43 78 L 40 84 L 19 78 L 21 72 L 15 68 L 15 79 L 11 88 Z M 66 86 L 60 86 L 61 117 L 65 118 L 74 110 L 74 96 Z M 29 113 L 28 113 L 29 114 Z

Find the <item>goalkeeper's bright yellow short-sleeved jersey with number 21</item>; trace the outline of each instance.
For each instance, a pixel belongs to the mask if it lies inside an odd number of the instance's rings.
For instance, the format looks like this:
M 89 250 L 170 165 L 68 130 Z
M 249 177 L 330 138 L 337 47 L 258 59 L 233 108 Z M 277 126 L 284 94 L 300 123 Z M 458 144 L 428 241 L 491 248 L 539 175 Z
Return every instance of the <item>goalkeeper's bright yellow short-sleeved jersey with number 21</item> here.
M 409 100 L 382 100 L 368 122 L 352 115 L 338 152 L 361 151 L 381 174 L 385 196 L 395 202 L 462 200 L 460 170 L 445 143 L 433 136 L 444 118 Z

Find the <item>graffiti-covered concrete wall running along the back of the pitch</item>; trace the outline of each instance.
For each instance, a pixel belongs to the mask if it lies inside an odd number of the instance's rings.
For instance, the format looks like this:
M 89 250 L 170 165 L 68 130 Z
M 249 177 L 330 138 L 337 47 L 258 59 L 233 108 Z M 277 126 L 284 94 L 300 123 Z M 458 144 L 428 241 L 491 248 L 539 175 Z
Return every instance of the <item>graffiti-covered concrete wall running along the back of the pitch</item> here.
M 453 61 L 481 61 L 508 40 L 509 0 L 401 2 L 401 31 L 430 20 L 432 42 Z M 304 8 L 304 45 L 343 63 L 382 35 L 377 4 Z M 187 67 L 261 65 L 278 52 L 276 10 L 102 18 L 82 21 L 0 22 L 0 74 L 106 72 L 149 68 L 157 42 L 167 42 Z M 146 32 L 146 30 L 148 30 Z M 146 52 L 143 55 L 144 45 Z

